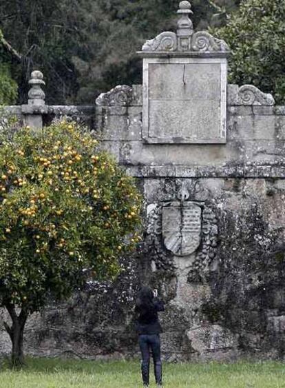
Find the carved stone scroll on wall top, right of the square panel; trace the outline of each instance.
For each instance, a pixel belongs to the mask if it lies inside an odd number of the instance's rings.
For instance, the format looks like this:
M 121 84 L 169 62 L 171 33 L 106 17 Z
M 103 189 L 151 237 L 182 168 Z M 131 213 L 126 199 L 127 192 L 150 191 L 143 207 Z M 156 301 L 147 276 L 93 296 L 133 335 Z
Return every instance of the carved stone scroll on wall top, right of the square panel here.
M 229 105 L 275 105 L 273 96 L 263 93 L 253 85 L 228 85 Z

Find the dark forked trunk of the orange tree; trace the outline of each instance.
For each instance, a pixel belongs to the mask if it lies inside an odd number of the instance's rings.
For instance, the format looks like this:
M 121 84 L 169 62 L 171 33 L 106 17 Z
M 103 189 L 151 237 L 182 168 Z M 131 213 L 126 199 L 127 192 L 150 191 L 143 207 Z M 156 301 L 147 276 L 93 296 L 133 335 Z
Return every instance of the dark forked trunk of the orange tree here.
M 22 309 L 18 316 L 14 305 L 6 305 L 5 307 L 8 310 L 12 319 L 11 327 L 7 323 L 4 323 L 5 328 L 12 341 L 12 367 L 21 367 L 24 365 L 23 331 L 25 328 L 25 322 L 28 318 L 28 314 Z

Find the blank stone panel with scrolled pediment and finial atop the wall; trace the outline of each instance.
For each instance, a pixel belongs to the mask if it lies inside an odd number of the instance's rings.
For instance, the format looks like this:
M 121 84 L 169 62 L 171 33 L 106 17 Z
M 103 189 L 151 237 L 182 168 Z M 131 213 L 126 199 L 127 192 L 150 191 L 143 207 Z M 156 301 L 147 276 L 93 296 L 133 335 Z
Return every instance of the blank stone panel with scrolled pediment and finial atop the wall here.
M 147 143 L 225 143 L 229 48 L 194 32 L 189 1 L 178 30 L 147 41 L 143 58 L 143 128 Z

